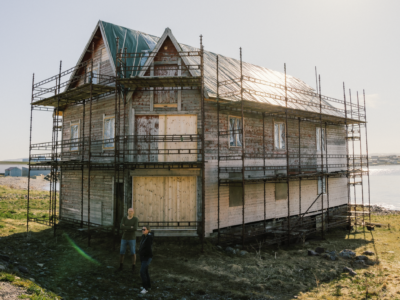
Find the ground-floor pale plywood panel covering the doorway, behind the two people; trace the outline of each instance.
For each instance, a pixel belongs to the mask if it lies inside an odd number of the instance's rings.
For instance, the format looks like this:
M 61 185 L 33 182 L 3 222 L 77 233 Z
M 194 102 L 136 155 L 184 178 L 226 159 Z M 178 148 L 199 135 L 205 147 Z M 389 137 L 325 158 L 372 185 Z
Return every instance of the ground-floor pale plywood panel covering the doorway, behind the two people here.
M 133 177 L 133 207 L 141 222 L 196 221 L 196 177 Z

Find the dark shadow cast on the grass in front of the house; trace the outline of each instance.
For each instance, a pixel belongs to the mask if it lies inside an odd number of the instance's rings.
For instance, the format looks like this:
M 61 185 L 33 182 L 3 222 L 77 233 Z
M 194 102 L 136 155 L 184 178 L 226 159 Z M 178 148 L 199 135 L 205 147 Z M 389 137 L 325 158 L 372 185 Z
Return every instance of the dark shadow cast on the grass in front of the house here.
M 370 232 L 365 235 L 372 237 Z M 368 268 L 343 258 L 331 261 L 307 256 L 307 250 L 315 247 L 337 254 L 343 249 L 355 250 L 370 244 L 373 247 L 373 240 L 358 236 L 359 233 L 335 229 L 327 232 L 325 239 L 309 238 L 306 245 L 264 247 L 260 241 L 258 248 L 243 257 L 228 255 L 209 241 L 202 254 L 198 239 L 155 237 L 150 266 L 153 289 L 148 296 L 293 299 L 322 283 L 340 279 L 344 266 Z M 115 273 L 119 245 L 114 247 L 112 237 L 93 236 L 88 247 L 86 236 L 77 230 L 59 228 L 57 237 L 53 237 L 53 229 L 47 228 L 31 232 L 29 237 L 16 233 L 1 238 L 0 254 L 10 256 L 12 269 L 17 265 L 28 268 L 29 274 L 14 269 L 18 276 L 34 278 L 40 287 L 64 299 L 133 299 L 140 292 L 139 261 L 135 272 L 131 272 L 130 257 L 126 255 L 125 269 Z

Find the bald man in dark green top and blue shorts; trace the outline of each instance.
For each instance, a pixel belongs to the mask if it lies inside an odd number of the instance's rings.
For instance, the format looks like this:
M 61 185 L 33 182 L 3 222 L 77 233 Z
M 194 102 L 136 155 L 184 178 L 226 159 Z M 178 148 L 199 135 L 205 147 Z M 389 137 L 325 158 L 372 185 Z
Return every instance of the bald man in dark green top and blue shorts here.
M 138 218 L 133 216 L 133 208 L 128 209 L 128 216 L 125 216 L 121 220 L 120 228 L 122 230 L 121 248 L 120 248 L 120 259 L 119 259 L 119 269 L 117 271 L 122 271 L 124 265 L 124 258 L 126 247 L 129 245 L 132 255 L 132 272 L 135 270 L 136 266 L 136 230 L 138 228 Z

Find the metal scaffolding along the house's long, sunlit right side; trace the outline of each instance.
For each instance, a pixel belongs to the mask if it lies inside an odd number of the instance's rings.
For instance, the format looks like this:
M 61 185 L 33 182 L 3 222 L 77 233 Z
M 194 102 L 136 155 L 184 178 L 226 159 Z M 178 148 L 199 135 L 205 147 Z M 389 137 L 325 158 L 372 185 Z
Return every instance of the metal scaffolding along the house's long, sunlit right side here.
M 317 75 L 317 74 L 316 74 Z M 302 90 L 295 87 L 288 86 L 286 76 L 286 64 L 284 65 L 284 82 L 282 84 L 276 82 L 266 82 L 263 79 L 258 79 L 245 75 L 242 67 L 242 49 L 240 49 L 240 77 L 236 79 L 229 79 L 220 81 L 220 66 L 219 58 L 216 59 L 216 80 L 217 80 L 217 125 L 218 125 L 218 241 L 235 244 L 239 241 L 244 244 L 246 241 L 254 239 L 263 239 L 267 244 L 281 243 L 283 241 L 290 241 L 298 238 L 305 238 L 306 235 L 312 233 L 320 233 L 324 236 L 324 232 L 330 228 L 337 226 L 348 225 L 352 228 L 352 224 L 366 225 L 364 214 L 368 213 L 370 216 L 370 196 L 369 196 L 369 162 L 368 162 L 368 143 L 367 143 L 367 131 L 366 131 L 366 108 L 365 108 L 365 94 L 364 94 L 364 106 L 361 106 L 358 101 L 357 104 L 351 101 L 346 101 L 346 95 L 344 100 L 327 97 L 321 94 L 321 78 L 317 78 L 317 89 L 316 92 L 310 90 Z M 266 93 L 254 89 L 244 88 L 245 82 L 257 83 L 260 85 L 267 85 L 276 89 L 284 90 L 285 95 Z M 221 93 L 221 87 L 227 85 L 237 84 L 240 86 L 240 92 L 225 92 Z M 288 91 L 291 92 L 292 96 L 288 97 Z M 258 105 L 247 100 L 243 94 L 246 93 L 251 98 L 252 95 L 257 95 L 269 99 L 280 100 L 280 109 L 276 106 L 267 106 L 259 103 Z M 293 94 L 299 95 L 294 97 Z M 240 98 L 232 99 L 233 103 L 227 103 L 223 101 L 224 97 L 233 97 L 240 95 Z M 318 102 L 306 102 L 301 99 L 301 96 L 312 96 L 318 99 Z M 222 98 L 222 99 L 221 99 Z M 261 102 L 261 101 L 260 101 Z M 318 111 L 312 113 L 305 113 L 298 111 L 293 108 L 289 108 L 288 103 L 301 104 L 306 107 L 317 108 Z M 333 103 L 333 105 L 332 105 Z M 344 105 L 344 109 L 338 107 L 338 105 Z M 350 108 L 350 109 L 349 109 Z M 235 112 L 241 116 L 242 127 L 238 130 L 231 128 L 230 130 L 220 129 L 220 113 L 221 110 L 226 112 Z M 363 110 L 363 111 L 362 111 Z M 334 115 L 334 118 L 330 117 L 330 112 Z M 246 125 L 244 123 L 244 113 L 249 116 L 256 117 L 257 115 L 262 116 L 262 153 L 247 153 L 247 147 L 245 146 L 246 136 Z M 284 119 L 285 123 L 285 151 L 276 153 L 274 151 L 266 151 L 266 137 L 265 137 L 265 118 L 267 116 L 280 117 Z M 294 136 L 295 132 L 289 131 L 288 120 L 298 120 L 298 146 L 289 145 L 289 137 Z M 306 154 L 302 153 L 302 138 L 301 128 L 302 124 L 314 123 L 319 126 L 319 139 L 321 151 L 317 154 Z M 361 144 L 361 128 L 365 126 L 365 145 L 367 149 L 367 155 L 362 154 Z M 345 143 L 346 143 L 346 154 L 330 154 L 328 153 L 328 127 L 343 128 L 345 130 Z M 351 129 L 350 129 L 351 128 Z M 355 130 L 358 128 L 358 131 Z M 240 134 L 242 136 L 242 151 L 241 154 L 233 153 L 228 155 L 220 155 L 220 137 L 229 136 L 234 134 Z M 292 139 L 293 141 L 293 139 Z M 352 155 L 349 154 L 349 141 L 351 141 Z M 354 143 L 360 142 L 359 154 L 357 154 Z M 246 159 L 251 159 L 254 165 L 246 163 Z M 254 159 L 262 160 L 259 163 L 254 163 Z M 273 163 L 274 160 L 284 160 L 285 165 L 276 165 Z M 332 160 L 346 160 L 346 163 L 332 163 Z M 227 167 L 221 166 L 222 161 L 240 161 L 242 167 Z M 268 162 L 268 165 L 266 164 Z M 366 168 L 365 168 L 366 166 Z M 267 174 L 267 172 L 273 171 L 274 173 Z M 241 172 L 241 178 L 231 179 L 230 176 L 227 178 L 226 173 L 237 174 Z M 263 175 L 258 173 L 257 176 L 250 176 L 248 173 L 251 172 L 262 172 Z M 283 172 L 283 173 L 282 173 Z M 247 174 L 246 174 L 247 173 Z M 247 176 L 246 176 L 247 175 Z M 364 202 L 364 189 L 363 189 L 363 176 L 368 176 L 368 205 Z M 343 215 L 335 212 L 330 207 L 330 193 L 329 193 L 329 178 L 347 178 L 347 191 L 348 191 L 348 205 L 347 213 Z M 357 181 L 356 178 L 359 178 Z M 305 180 L 321 180 L 322 189 L 317 195 L 316 199 L 312 204 L 304 210 L 302 208 L 302 182 Z M 293 200 L 290 196 L 290 182 L 298 182 L 299 188 L 299 213 L 291 213 L 291 202 Z M 266 219 L 266 184 L 267 183 L 286 183 L 287 185 L 287 217 L 277 219 Z M 324 184 L 325 183 L 325 184 Z M 251 184 L 263 184 L 264 198 L 264 219 L 261 222 L 245 222 L 245 187 Z M 361 198 L 361 210 L 357 210 L 357 194 L 356 185 L 360 184 L 362 193 L 358 196 Z M 325 185 L 325 187 L 324 187 Z M 239 226 L 228 226 L 221 228 L 220 222 L 220 198 L 222 186 L 240 186 L 242 187 L 242 224 Z M 324 189 L 326 191 L 324 191 Z M 354 199 L 351 200 L 350 192 L 353 189 Z M 327 207 L 324 207 L 324 197 L 326 197 Z M 291 201 L 292 200 L 292 201 Z M 321 209 L 315 209 L 315 204 L 320 202 Z M 356 207 L 352 210 L 352 207 Z M 360 220 L 359 216 L 362 216 Z M 320 230 L 316 228 L 316 221 L 321 223 Z M 272 221 L 272 222 L 271 222 Z M 278 222 L 279 221 L 279 222 Z M 369 222 L 371 220 L 369 219 Z M 279 225 L 267 226 L 268 223 Z M 251 230 L 247 231 L 247 227 L 252 227 Z

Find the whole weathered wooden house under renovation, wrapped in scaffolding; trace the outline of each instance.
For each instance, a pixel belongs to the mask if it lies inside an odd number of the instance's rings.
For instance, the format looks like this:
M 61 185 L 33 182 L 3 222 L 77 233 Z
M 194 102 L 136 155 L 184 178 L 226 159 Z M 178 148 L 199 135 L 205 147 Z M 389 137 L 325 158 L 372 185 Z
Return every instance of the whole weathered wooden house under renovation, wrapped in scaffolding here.
M 51 170 L 51 213 L 30 215 L 28 197 L 27 229 L 117 234 L 129 207 L 157 235 L 243 243 L 365 224 L 350 205 L 369 187 L 365 95 L 284 70 L 99 21 L 76 66 L 33 80 L 31 140 L 34 112 L 53 134 L 30 143 L 29 170 Z

